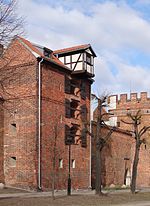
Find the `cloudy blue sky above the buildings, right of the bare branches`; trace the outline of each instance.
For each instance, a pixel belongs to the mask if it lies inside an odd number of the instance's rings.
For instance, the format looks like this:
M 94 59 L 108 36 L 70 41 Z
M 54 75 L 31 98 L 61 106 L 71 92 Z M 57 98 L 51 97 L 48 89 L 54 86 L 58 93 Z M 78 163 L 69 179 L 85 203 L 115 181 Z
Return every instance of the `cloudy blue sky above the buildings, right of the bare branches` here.
M 93 92 L 150 92 L 150 0 L 19 0 L 18 8 L 31 42 L 91 44 Z

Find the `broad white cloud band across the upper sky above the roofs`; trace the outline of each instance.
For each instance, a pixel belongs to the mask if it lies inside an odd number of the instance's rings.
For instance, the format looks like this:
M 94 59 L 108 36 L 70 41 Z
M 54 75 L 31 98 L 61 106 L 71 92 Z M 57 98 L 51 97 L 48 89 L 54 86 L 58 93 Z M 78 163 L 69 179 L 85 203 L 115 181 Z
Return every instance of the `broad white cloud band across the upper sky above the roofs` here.
M 61 40 L 64 38 L 65 45 L 68 45 L 67 37 L 72 37 L 74 42 L 90 41 L 105 49 L 134 46 L 150 51 L 147 47 L 150 42 L 150 24 L 125 4 L 96 4 L 91 16 L 76 9 L 65 10 L 61 6 L 51 7 L 31 0 L 20 0 L 20 4 L 29 24 L 43 32 L 43 39 L 48 34 L 55 34 Z M 59 44 L 58 39 L 55 42 L 55 45 Z

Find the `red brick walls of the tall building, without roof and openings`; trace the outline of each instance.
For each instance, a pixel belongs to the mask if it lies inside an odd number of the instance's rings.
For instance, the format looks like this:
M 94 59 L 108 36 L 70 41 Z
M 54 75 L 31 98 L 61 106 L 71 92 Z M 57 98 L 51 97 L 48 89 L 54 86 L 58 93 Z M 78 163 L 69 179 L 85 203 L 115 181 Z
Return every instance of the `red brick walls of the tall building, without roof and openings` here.
M 0 70 L 4 88 L 0 88 L 4 102 L 4 181 L 6 185 L 26 189 L 38 187 L 38 62 L 26 47 L 15 40 L 3 59 L 9 60 L 4 70 Z M 15 55 L 15 56 L 14 56 Z M 8 58 L 6 58 L 8 57 Z M 7 69 L 6 69 L 7 68 Z M 70 76 L 54 64 L 42 63 L 41 69 L 41 186 L 43 190 L 52 188 L 53 156 L 56 137 L 56 189 L 67 188 L 68 178 L 68 145 L 65 145 L 65 125 L 78 124 L 78 136 L 71 145 L 72 188 L 87 188 L 90 179 L 90 137 L 87 135 L 86 146 L 82 145 L 81 114 L 78 119 L 65 117 L 65 99 L 75 95 L 65 94 L 65 75 L 78 82 L 79 111 L 86 105 L 87 122 L 90 117 L 91 82 L 86 77 L 86 97 L 81 97 L 83 79 Z M 1 115 L 1 114 L 0 114 Z M 88 126 L 87 126 L 88 127 Z M 0 146 L 1 144 L 0 140 Z M 3 156 L 0 157 L 0 164 Z M 63 167 L 59 167 L 63 160 Z M 2 171 L 0 171 L 2 172 Z M 1 173 L 2 174 L 2 173 Z M 0 176 L 3 180 L 3 174 Z

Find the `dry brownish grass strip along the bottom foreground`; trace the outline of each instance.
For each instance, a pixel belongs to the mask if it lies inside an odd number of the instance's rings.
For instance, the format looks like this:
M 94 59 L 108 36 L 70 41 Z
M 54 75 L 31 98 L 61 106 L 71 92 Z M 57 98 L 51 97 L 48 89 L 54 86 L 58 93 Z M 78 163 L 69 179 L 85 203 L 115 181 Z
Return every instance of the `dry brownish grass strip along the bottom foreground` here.
M 6 198 L 0 199 L 0 206 L 103 206 L 103 205 L 121 205 L 125 203 L 136 203 L 150 201 L 150 193 L 130 193 L 108 194 L 107 196 L 96 195 L 72 195 L 70 197 L 51 197 L 37 198 Z

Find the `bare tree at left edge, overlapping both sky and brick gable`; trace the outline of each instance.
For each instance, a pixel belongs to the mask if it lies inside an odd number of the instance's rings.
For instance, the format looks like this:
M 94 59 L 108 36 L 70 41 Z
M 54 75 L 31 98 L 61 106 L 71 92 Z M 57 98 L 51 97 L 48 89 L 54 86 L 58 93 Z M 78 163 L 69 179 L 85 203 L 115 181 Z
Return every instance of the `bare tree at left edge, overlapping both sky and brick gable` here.
M 0 0 L 0 93 L 7 94 L 6 82 L 18 78 L 18 70 L 12 67 L 18 55 L 5 54 L 4 50 L 15 35 L 24 34 L 24 18 L 17 14 L 17 0 Z M 5 72 L 4 72 L 5 69 Z M 9 95 L 9 94 L 8 94 Z

